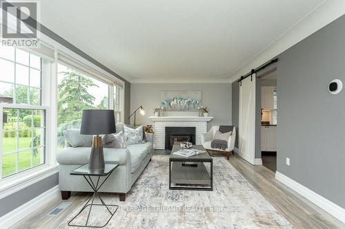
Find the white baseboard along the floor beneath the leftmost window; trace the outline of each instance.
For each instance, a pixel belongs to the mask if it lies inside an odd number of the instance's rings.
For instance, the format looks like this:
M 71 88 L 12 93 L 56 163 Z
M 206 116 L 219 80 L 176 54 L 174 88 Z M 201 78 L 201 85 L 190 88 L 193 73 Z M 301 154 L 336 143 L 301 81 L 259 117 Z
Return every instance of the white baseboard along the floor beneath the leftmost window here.
M 32 212 L 40 208 L 41 206 L 48 204 L 52 199 L 59 198 L 60 191 L 59 185 L 46 190 L 38 197 L 31 199 L 22 206 L 8 212 L 6 215 L 0 217 L 0 228 L 10 228 L 15 223 L 19 222 L 21 219 L 27 217 Z

